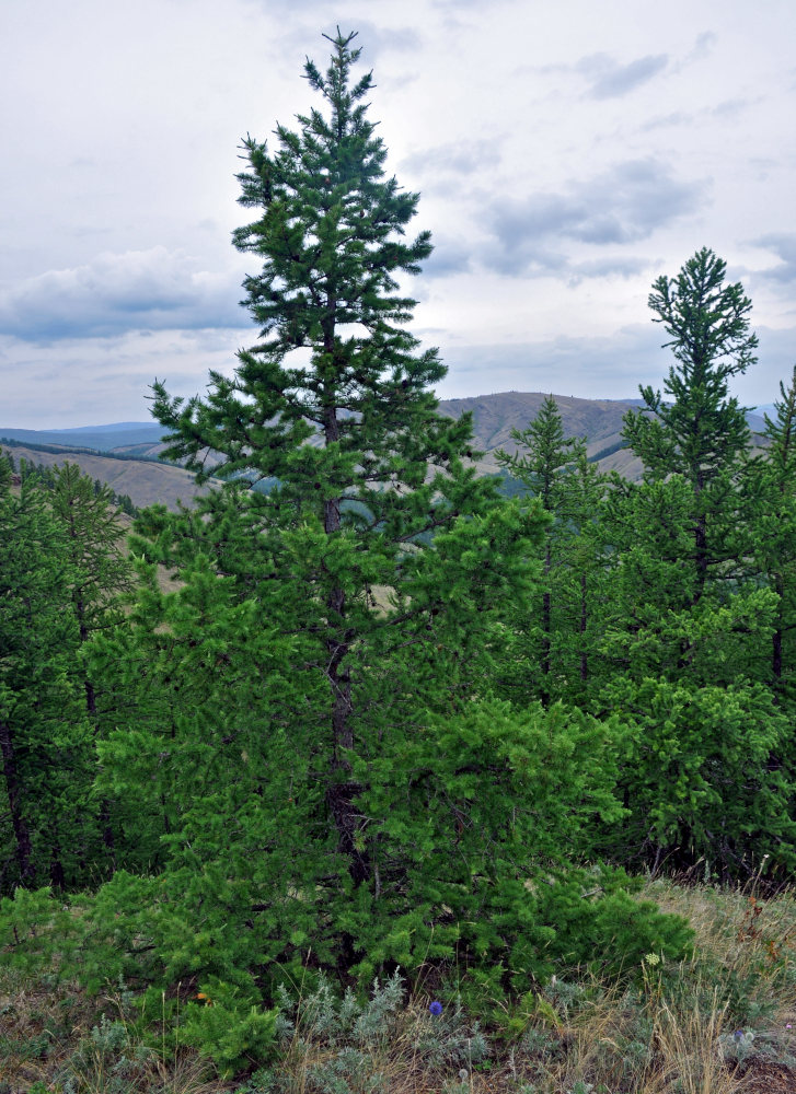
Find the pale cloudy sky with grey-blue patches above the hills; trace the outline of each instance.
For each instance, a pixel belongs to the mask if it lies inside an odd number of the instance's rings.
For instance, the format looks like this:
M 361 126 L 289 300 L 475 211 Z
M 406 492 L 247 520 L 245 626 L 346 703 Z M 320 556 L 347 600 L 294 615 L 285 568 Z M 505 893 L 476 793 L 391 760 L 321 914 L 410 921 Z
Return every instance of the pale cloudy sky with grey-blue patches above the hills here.
M 793 0 L 7 0 L 0 426 L 146 420 L 254 340 L 240 138 L 290 124 L 358 30 L 388 170 L 436 252 L 413 330 L 441 397 L 660 386 L 651 281 L 702 246 L 796 363 Z

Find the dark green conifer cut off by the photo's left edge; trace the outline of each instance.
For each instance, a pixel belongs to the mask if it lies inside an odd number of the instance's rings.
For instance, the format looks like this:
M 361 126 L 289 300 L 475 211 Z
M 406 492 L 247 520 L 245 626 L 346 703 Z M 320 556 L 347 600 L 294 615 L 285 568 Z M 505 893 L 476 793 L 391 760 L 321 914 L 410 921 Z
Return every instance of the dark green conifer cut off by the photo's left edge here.
M 35 475 L 12 491 L 7 468 L 0 458 L 0 888 L 61 888 L 80 878 L 92 835 L 73 572 L 47 491 Z

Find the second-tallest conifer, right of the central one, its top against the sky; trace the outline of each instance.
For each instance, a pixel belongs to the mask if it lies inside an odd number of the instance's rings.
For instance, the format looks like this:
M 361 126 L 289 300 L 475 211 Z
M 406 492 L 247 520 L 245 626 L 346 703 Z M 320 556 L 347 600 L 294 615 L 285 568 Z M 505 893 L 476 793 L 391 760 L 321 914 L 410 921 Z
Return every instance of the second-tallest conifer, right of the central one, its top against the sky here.
M 658 278 L 649 306 L 676 363 L 667 397 L 642 387 L 645 406 L 625 416 L 644 482 L 618 485 L 605 514 L 613 674 L 603 709 L 636 726 L 621 857 L 749 876 L 763 853 L 789 868 L 793 833 L 791 778 L 777 761 L 786 720 L 761 657 L 776 596 L 755 573 L 751 434 L 729 394 L 757 360 L 751 301 L 703 248 Z

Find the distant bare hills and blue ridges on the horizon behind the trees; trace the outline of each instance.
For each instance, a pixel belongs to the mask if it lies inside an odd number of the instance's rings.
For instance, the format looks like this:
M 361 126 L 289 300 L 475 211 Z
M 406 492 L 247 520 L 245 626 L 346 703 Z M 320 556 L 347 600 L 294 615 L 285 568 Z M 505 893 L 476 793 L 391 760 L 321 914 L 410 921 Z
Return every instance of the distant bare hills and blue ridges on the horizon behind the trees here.
M 634 399 L 581 399 L 572 395 L 554 395 L 562 417 L 565 437 L 586 439 L 587 453 L 601 470 L 616 470 L 628 479 L 639 479 L 642 464 L 623 446 L 622 419 L 628 410 L 642 406 Z M 511 440 L 512 429 L 526 429 L 539 414 L 546 394 L 543 392 L 500 392 L 461 399 L 442 399 L 440 412 L 459 418 L 472 411 L 474 445 L 484 453 L 478 466 L 485 473 L 498 469 L 495 453 L 498 449 L 516 451 Z M 762 408 L 769 412 L 769 407 Z M 762 433 L 762 414 L 747 416 L 754 433 Z M 71 459 L 80 464 L 85 474 L 108 482 L 117 493 L 128 494 L 136 505 L 161 501 L 175 508 L 177 499 L 186 503 L 196 497 L 199 488 L 193 476 L 180 467 L 152 463 L 163 451 L 165 430 L 155 422 L 124 421 L 104 426 L 77 426 L 58 430 L 15 429 L 0 427 L 0 446 L 3 438 L 15 441 L 12 451 L 33 463 L 64 463 Z M 56 445 L 59 453 L 23 451 L 19 444 Z M 64 452 L 73 447 L 74 453 Z M 81 453 L 79 449 L 93 449 Z M 124 461 L 114 456 L 125 456 Z M 140 457 L 138 459 L 130 457 Z

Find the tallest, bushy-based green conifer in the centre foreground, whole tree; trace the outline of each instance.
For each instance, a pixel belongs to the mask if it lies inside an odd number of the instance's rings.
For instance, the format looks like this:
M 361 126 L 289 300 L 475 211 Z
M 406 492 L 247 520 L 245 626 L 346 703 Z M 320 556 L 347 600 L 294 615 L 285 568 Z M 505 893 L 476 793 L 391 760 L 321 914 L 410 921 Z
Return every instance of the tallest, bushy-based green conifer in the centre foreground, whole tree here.
M 307 63 L 322 109 L 274 151 L 244 142 L 257 216 L 234 243 L 262 264 L 244 282 L 259 340 L 206 398 L 155 384 L 168 454 L 210 489 L 142 515 L 147 584 L 129 630 L 95 643 L 138 711 L 102 745 L 103 788 L 162 811 L 165 860 L 117 874 L 104 905 L 130 946 L 153 939 L 166 982 L 222 977 L 244 1003 L 310 952 L 365 980 L 461 958 L 527 986 L 627 911 L 626 877 L 593 889 L 565 861 L 619 810 L 619 728 L 492 694 L 546 517 L 499 499 L 470 420 L 437 412 L 445 369 L 400 288 L 430 241 L 406 238 L 417 195 L 384 176 L 353 38 L 325 74 Z M 556 883 L 533 896 L 538 870 Z M 633 945 L 668 944 L 638 915 Z

